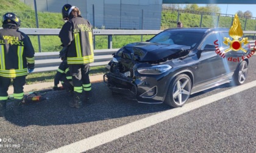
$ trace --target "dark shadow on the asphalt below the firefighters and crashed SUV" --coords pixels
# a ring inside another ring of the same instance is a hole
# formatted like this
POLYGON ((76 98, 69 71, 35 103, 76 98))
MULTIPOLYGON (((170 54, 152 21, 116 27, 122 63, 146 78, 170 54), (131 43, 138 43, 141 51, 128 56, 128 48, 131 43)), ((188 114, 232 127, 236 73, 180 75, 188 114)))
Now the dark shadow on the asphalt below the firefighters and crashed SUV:
POLYGON ((7 104, 5 120, 17 126, 49 126, 61 124, 88 123, 92 121, 122 118, 133 115, 151 114, 171 109, 166 104, 141 104, 122 96, 113 96, 105 83, 92 84, 92 98, 80 109, 68 106, 65 90, 46 93, 48 100, 23 105, 20 115, 12 114, 12 101, 7 104))

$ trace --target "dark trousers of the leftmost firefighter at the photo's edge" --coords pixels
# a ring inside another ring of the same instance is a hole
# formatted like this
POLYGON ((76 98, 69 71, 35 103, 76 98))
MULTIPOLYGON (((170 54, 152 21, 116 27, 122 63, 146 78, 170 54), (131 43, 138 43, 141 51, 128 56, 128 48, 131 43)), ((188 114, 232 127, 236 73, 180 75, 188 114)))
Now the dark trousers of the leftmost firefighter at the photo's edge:
MULTIPOLYGON (((8 89, 11 83, 11 78, 0 77, 0 100, 7 100, 8 89)), ((13 78, 13 97, 21 100, 23 98, 23 86, 26 83, 26 76, 13 78)))

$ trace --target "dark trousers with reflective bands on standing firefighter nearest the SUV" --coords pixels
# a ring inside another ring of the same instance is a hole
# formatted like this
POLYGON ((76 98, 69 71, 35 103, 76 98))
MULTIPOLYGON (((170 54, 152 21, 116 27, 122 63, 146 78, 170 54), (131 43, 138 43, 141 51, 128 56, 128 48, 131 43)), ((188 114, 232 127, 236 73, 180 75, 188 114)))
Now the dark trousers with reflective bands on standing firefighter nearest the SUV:
POLYGON ((72 75, 74 92, 82 93, 83 87, 85 91, 91 90, 89 78, 90 65, 69 65, 69 72, 72 75))

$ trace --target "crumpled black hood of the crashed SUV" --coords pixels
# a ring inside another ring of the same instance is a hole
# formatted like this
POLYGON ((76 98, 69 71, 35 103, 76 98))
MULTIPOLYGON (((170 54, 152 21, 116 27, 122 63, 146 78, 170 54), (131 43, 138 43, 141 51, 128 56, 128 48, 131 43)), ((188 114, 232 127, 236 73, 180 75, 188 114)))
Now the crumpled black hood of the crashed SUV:
POLYGON ((188 50, 190 46, 180 46, 177 44, 157 44, 154 42, 135 42, 127 44, 115 55, 138 61, 155 61, 165 58, 181 50, 188 50))

